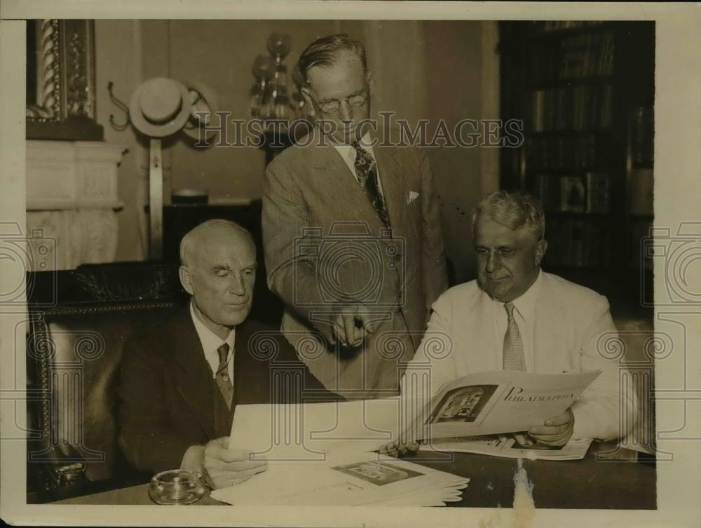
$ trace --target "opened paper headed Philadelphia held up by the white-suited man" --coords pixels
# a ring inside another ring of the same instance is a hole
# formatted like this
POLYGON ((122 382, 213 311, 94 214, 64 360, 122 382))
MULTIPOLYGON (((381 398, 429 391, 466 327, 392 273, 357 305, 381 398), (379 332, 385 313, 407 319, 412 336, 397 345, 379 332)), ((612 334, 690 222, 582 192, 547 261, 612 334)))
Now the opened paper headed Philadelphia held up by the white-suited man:
POLYGON ((402 415, 414 417, 402 440, 526 431, 566 411, 600 372, 480 372, 444 384, 433 398, 404 394, 402 415))

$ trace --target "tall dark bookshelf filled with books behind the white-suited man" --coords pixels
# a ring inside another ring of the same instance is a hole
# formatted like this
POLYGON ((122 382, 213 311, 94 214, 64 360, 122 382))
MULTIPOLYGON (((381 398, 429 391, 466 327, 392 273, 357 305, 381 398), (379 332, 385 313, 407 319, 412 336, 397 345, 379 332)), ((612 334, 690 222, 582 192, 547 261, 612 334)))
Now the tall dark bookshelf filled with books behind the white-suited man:
POLYGON ((501 22, 501 187, 543 202, 547 271, 639 288, 653 222, 654 22, 501 22))

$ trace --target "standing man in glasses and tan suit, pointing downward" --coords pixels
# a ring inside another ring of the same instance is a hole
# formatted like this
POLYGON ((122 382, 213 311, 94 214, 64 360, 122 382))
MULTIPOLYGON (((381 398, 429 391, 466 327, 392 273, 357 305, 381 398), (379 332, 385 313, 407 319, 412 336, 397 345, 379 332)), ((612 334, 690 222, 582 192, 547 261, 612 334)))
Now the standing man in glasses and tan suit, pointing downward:
POLYGON ((447 288, 426 156, 383 146, 369 121, 374 79, 348 35, 299 58, 318 126, 266 170, 268 285, 282 329, 315 377, 348 398, 398 392, 430 305, 447 288))

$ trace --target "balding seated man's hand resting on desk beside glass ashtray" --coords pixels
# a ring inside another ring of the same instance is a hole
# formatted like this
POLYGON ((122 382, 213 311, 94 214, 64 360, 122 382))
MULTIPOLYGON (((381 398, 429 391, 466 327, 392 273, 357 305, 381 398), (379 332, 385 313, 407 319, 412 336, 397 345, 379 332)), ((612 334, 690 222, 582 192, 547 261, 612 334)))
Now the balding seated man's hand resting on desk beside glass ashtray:
POLYGON ((202 467, 207 485, 217 489, 245 482, 253 475, 266 471, 268 463, 249 460, 246 451, 229 450, 229 437, 224 436, 205 446, 202 467))

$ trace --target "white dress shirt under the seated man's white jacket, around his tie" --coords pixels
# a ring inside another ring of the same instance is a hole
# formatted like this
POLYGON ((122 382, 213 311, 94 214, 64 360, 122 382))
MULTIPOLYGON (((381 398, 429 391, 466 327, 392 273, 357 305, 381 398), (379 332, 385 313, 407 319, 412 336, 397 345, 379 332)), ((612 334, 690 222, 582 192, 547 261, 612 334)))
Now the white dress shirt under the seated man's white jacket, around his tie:
MULTIPOLYGON (((533 372, 535 364, 535 334, 536 334, 536 300, 538 299, 538 290, 540 290, 541 274, 538 270, 536 282, 531 284, 521 297, 512 301, 514 305, 514 318, 516 325, 519 327, 521 334, 521 342, 524 346, 524 358, 526 360, 526 372, 533 372)), ((494 343, 496 346, 496 357, 499 365, 504 363, 504 337, 509 326, 509 318, 504 308, 503 302, 491 299, 494 307, 494 343)))

